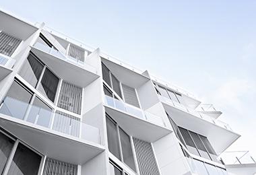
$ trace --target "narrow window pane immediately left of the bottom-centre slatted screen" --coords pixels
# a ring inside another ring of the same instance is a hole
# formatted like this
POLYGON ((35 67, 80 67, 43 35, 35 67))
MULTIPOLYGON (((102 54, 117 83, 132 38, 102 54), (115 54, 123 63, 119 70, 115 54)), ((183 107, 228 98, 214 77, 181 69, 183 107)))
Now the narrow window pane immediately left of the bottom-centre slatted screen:
POLYGON ((129 135, 119 127, 121 147, 123 153, 123 162, 127 164, 133 171, 136 171, 135 163, 133 160, 133 151, 131 149, 131 141, 129 135))

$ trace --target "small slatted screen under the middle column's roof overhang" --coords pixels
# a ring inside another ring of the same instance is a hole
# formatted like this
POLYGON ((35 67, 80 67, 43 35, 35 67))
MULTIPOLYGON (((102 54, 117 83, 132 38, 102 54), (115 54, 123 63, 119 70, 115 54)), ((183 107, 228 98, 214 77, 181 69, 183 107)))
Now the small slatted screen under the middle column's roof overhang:
POLYGON ((139 108, 139 102, 137 100, 135 89, 125 84, 122 84, 122 87, 123 96, 125 96, 125 102, 139 108))

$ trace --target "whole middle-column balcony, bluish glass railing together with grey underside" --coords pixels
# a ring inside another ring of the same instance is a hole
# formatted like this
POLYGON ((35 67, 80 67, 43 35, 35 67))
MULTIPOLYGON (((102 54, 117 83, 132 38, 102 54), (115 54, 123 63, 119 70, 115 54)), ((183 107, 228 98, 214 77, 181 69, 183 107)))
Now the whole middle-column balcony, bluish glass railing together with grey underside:
POLYGON ((113 117, 129 135, 144 141, 154 142, 168 133, 166 125, 160 116, 144 112, 120 100, 105 96, 106 112, 113 117))

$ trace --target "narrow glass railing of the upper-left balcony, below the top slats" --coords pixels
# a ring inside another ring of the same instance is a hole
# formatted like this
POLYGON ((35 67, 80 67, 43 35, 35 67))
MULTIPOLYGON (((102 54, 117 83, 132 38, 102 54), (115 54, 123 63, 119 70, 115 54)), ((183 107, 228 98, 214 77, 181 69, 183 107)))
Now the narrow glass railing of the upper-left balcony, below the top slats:
POLYGON ((69 63, 72 63, 73 65, 77 65, 78 67, 82 67, 84 69, 89 69, 93 73, 97 74, 96 67, 94 67, 88 63, 85 63, 83 61, 79 61, 78 59, 75 59, 73 57, 66 56, 64 53, 60 52, 59 50, 56 50, 53 47, 46 46, 45 44, 42 44, 41 42, 36 42, 36 44, 34 44, 34 47, 39 50, 42 50, 50 55, 53 55, 54 57, 62 59, 63 61, 67 61, 69 63))

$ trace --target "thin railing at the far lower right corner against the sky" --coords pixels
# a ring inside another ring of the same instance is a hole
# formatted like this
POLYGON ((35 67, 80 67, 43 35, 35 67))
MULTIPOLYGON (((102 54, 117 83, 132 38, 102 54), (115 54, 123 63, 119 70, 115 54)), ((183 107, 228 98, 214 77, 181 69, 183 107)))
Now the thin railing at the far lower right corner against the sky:
POLYGON ((256 164, 249 151, 226 151, 222 153, 221 160, 225 165, 256 164))

